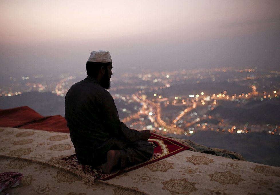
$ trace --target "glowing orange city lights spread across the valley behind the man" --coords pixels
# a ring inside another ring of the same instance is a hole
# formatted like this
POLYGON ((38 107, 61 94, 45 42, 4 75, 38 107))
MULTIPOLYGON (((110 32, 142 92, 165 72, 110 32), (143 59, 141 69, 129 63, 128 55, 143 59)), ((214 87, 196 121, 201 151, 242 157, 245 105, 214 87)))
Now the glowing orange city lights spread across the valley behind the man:
MULTIPOLYGON (((117 86, 116 80, 112 77, 112 88, 109 92, 112 94, 114 101, 121 105, 119 114, 122 117, 122 122, 127 123, 130 128, 150 128, 165 134, 186 136, 190 136, 197 131, 210 130, 230 134, 266 132, 273 136, 279 135, 278 127, 280 124, 247 125, 231 123, 224 120, 223 115, 220 115, 218 109, 216 110, 216 108, 223 108, 227 104, 241 108, 252 101, 276 100, 279 98, 279 83, 266 82, 265 79, 270 77, 267 77, 267 74, 253 71, 253 69, 247 69, 247 71, 245 69, 226 69, 226 72, 230 73, 228 78, 224 78, 226 82, 235 83, 235 85, 239 85, 241 82, 247 83, 242 83, 240 89, 243 91, 224 89, 223 83, 219 83, 219 80, 221 80, 219 74, 222 70, 184 71, 184 74, 180 74, 180 71, 137 73, 137 76, 125 74, 124 77, 117 79, 129 83, 129 85, 117 86), (256 75, 246 75, 250 72, 249 70, 256 75), (235 74, 236 72, 238 74, 242 73, 244 76, 235 74), (199 77, 197 77, 198 74, 199 77), (197 82, 197 79, 199 79, 199 82, 197 82), (207 81, 204 81, 204 79, 207 81), (147 84, 141 83, 143 81, 147 84), (193 81, 192 85, 194 86, 186 91, 184 91, 184 87, 182 89, 175 88, 178 83, 181 85, 190 81, 193 81), (203 88, 203 83, 207 82, 213 82, 211 85, 213 84, 221 90, 211 91, 212 89, 206 87, 206 85, 203 88), (260 84, 259 82, 263 83, 260 84), (197 83, 200 86, 199 89, 196 89, 195 85, 197 83), (247 90, 244 89, 246 87, 247 90)), ((271 76, 273 78, 277 73, 271 74, 274 74, 271 76)), ((46 77, 45 75, 22 75, 18 78, 11 75, 7 77, 10 84, 0 88, 0 98, 10 98, 30 91, 51 92, 58 96, 64 96, 76 78, 77 76, 74 75, 61 75, 57 80, 54 80, 54 77, 46 77), (44 81, 44 78, 46 78, 46 81, 44 81)), ((231 110, 228 110, 228 112, 230 113, 231 110)))

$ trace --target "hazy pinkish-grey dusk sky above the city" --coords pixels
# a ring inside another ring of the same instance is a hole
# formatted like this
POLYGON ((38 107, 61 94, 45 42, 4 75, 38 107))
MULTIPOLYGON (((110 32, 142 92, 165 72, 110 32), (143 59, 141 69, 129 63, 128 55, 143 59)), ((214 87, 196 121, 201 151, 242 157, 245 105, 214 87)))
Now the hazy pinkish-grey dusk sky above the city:
POLYGON ((0 1, 1 73, 280 67, 280 1, 0 1))

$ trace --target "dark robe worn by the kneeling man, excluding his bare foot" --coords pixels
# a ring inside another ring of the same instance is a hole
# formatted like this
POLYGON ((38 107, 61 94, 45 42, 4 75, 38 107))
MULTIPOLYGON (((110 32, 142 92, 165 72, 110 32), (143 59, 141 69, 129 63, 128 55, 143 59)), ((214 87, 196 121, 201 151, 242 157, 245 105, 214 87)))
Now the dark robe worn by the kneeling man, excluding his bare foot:
POLYGON ((153 146, 140 140, 139 131, 119 120, 113 97, 92 77, 70 87, 65 96, 65 119, 82 164, 103 164, 109 150, 120 151, 120 168, 144 162, 153 155, 153 146))

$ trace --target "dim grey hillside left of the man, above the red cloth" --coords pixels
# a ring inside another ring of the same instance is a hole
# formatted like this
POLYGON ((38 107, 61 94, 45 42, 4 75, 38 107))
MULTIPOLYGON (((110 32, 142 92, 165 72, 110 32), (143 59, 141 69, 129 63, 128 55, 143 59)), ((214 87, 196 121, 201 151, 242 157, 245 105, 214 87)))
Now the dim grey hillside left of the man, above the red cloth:
POLYGON ((22 93, 9 97, 0 97, 0 108, 15 108, 29 106, 43 116, 58 115, 64 116, 64 97, 56 94, 36 91, 22 93))

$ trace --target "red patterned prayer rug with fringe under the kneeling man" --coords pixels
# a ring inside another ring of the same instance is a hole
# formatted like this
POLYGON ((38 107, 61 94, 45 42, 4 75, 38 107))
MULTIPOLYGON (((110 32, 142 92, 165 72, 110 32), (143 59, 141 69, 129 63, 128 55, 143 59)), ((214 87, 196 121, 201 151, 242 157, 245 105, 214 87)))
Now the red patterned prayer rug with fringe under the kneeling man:
MULTIPOLYGON (((115 172, 112 172, 111 174, 104 174, 102 173, 102 170, 96 170, 92 166, 88 165, 82 165, 78 162, 76 158, 76 154, 60 158, 60 161, 64 161, 63 164, 67 164, 68 167, 71 167, 71 170, 74 170, 75 174, 78 174, 82 178, 86 178, 87 180, 93 180, 94 179, 100 179, 100 180, 109 180, 111 178, 114 178, 115 176, 120 175, 124 171, 131 171, 135 170, 137 168, 143 167, 147 164, 151 164, 153 162, 156 162, 158 160, 161 160, 163 158, 167 158, 169 156, 172 156, 174 154, 177 154, 178 152, 181 152, 183 150, 188 150, 189 148, 175 140, 159 136, 157 134, 152 133, 150 136, 148 142, 153 144, 154 146, 154 154, 152 158, 146 162, 127 167, 123 170, 117 170, 115 172)), ((60 163, 58 163, 60 164, 60 163)), ((87 181, 84 181, 85 183, 90 183, 87 181)))

